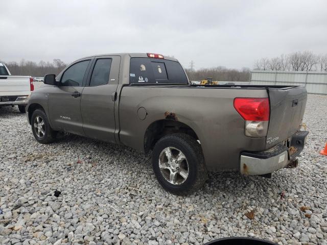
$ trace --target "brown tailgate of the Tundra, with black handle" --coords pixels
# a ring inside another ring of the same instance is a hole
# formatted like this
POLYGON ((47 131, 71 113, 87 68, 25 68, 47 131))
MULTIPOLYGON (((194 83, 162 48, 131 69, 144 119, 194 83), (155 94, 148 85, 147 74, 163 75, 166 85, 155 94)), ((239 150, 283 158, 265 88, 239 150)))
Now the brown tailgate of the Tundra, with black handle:
POLYGON ((266 149, 290 138, 300 129, 307 103, 304 87, 268 88, 270 120, 266 149))

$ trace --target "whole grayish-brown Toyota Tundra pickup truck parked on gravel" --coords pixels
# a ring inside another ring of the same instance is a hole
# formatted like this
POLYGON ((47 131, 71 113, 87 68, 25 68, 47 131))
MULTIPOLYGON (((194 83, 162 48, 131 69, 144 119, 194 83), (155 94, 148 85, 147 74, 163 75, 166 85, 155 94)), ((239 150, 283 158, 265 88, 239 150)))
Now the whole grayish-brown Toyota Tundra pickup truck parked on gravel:
POLYGON ((176 59, 158 54, 89 56, 44 83, 27 106, 38 142, 64 131, 151 152, 174 194, 201 187, 207 171, 271 177, 295 167, 308 135, 306 88, 191 85, 176 59))

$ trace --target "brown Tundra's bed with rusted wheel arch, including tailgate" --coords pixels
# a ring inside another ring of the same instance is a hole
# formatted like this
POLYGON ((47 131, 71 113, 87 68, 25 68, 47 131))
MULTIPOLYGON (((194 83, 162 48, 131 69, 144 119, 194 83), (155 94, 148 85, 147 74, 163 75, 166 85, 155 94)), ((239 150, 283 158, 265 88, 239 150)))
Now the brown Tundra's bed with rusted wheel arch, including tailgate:
POLYGON ((141 132, 151 122, 165 119, 165 113, 173 113, 176 120, 197 133, 208 169, 236 170, 241 152, 264 151, 299 129, 306 99, 306 89, 299 86, 127 85, 122 88, 119 102, 119 138, 123 144, 144 151, 139 142, 144 138, 141 132), (271 117, 267 137, 244 135, 245 121, 233 107, 236 97, 269 97, 271 117), (296 98, 298 106, 292 107, 296 98), (141 107, 147 113, 143 121, 135 114, 141 107), (267 144, 268 138, 271 140, 267 144))

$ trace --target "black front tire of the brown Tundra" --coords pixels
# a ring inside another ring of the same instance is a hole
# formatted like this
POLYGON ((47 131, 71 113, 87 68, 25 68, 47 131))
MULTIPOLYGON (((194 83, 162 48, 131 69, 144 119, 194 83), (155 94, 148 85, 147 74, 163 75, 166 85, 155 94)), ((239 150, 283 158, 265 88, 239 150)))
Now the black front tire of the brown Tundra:
POLYGON ((35 139, 42 143, 42 144, 48 144, 53 142, 56 139, 57 132, 54 131, 49 124, 48 117, 46 117, 45 112, 42 109, 36 109, 31 118, 31 127, 32 127, 32 132, 35 137, 35 139), (42 131, 44 134, 39 133, 38 135, 38 130, 35 127, 35 123, 37 122, 37 117, 40 117, 42 121, 44 122, 44 126, 42 127, 42 131))

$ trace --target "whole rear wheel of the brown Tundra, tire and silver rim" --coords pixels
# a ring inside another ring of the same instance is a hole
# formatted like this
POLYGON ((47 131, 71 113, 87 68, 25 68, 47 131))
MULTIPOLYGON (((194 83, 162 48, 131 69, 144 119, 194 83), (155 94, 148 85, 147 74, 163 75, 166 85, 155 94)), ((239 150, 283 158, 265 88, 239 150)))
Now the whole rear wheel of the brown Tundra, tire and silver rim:
POLYGON ((152 151, 154 174, 164 189, 185 195, 207 179, 200 144, 187 134, 169 134, 157 141, 152 151))

